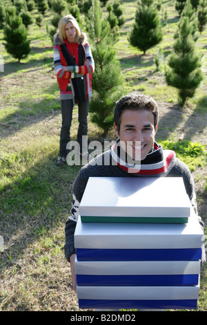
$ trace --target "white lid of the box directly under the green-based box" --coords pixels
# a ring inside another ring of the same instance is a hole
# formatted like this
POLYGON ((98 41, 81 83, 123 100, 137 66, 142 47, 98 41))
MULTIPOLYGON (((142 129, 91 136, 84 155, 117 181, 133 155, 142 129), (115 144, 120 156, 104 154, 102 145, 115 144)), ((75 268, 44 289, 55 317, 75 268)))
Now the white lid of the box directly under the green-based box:
POLYGON ((186 224, 81 223, 75 229, 75 248, 175 249, 201 248, 204 232, 191 210, 186 224))

